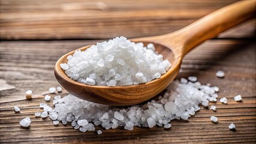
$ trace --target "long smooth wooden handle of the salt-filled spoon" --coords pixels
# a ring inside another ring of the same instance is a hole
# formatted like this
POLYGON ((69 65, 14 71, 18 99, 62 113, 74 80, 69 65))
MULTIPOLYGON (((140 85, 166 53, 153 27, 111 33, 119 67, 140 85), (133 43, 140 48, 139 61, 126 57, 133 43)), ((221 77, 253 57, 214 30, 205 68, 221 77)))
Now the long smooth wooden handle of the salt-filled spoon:
POLYGON ((198 44, 216 37, 222 31, 254 17, 255 4, 255 0, 236 2, 177 31, 178 40, 184 44, 182 55, 184 56, 198 44))

